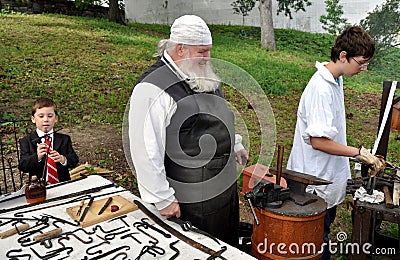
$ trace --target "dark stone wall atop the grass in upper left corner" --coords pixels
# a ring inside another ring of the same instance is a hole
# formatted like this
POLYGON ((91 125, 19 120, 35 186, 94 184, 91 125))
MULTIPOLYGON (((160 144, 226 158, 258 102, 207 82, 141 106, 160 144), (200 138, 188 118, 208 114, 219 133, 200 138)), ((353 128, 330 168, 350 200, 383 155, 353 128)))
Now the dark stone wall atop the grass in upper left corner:
MULTIPOLYGON (((108 18, 108 7, 92 6, 86 10, 81 10, 75 7, 75 2, 68 0, 0 0, 0 9, 8 8, 15 12, 29 14, 55 13, 108 18)), ((121 13, 124 14, 124 12, 121 13)))

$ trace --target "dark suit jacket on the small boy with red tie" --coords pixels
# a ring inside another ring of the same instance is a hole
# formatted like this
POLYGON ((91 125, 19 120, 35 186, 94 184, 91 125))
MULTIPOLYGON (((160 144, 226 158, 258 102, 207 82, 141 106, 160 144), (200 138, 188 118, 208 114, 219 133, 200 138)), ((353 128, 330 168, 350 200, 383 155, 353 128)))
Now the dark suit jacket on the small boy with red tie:
MULTIPOLYGON (((56 150, 61 155, 67 158, 67 165, 63 166, 57 163, 57 173, 59 181, 68 181, 71 179, 69 168, 74 168, 79 162, 78 155, 72 148, 72 141, 69 135, 54 133, 53 150, 56 150)), ((37 144, 41 143, 36 131, 20 140, 20 161, 18 169, 29 173, 29 177, 33 175, 42 178, 45 160, 38 162, 37 159, 37 144)))

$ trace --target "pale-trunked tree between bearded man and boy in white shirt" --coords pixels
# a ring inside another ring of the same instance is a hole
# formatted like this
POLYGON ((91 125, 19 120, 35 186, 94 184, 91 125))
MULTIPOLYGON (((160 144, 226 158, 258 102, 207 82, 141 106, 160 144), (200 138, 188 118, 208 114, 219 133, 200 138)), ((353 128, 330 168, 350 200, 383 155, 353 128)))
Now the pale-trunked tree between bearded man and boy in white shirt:
MULTIPOLYGON (((272 19, 272 0, 250 0, 254 3, 259 1, 258 10, 260 11, 261 27, 261 46, 270 50, 276 50, 274 21, 272 19)), ((305 11, 306 6, 310 6, 310 0, 277 0, 277 14, 284 12, 285 16, 292 19, 292 10, 298 12, 305 11)), ((253 5, 253 6, 254 6, 253 5)), ((251 9, 250 9, 251 11, 251 9)))

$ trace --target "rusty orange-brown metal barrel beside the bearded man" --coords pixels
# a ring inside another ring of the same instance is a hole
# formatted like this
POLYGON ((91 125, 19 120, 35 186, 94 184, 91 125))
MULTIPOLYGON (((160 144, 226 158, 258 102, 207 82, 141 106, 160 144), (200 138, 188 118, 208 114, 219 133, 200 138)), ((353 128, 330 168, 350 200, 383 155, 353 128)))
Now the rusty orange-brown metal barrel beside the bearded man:
POLYGON ((251 254, 257 259, 321 259, 326 203, 285 201, 280 208, 255 208, 251 254))

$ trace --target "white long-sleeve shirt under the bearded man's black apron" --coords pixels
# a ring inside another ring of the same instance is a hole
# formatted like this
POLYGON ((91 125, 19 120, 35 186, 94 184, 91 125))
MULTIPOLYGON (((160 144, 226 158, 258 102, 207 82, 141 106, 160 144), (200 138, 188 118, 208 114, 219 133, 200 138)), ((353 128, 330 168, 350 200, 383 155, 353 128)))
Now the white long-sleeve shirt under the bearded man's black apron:
MULTIPOLYGON (((181 78, 187 76, 179 70, 170 56, 164 58, 181 78)), ((154 203, 161 210, 175 200, 165 167, 166 128, 175 114, 177 104, 161 88, 147 82, 135 86, 129 109, 129 146, 141 198, 154 203)), ((235 135, 234 151, 244 149, 242 137, 235 135)))

